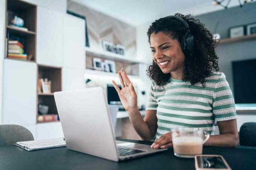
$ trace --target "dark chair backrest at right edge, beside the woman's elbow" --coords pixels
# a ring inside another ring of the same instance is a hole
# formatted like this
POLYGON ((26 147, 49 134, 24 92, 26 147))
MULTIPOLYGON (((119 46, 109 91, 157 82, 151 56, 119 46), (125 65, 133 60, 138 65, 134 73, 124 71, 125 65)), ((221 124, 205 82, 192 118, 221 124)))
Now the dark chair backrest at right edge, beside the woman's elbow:
POLYGON ((240 145, 256 146, 256 122, 242 124, 239 131, 240 145))

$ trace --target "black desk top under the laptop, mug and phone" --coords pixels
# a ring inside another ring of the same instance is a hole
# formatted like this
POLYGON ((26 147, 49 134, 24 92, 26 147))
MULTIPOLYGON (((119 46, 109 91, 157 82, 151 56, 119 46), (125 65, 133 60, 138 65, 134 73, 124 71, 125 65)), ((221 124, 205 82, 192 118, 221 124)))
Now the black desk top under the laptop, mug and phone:
MULTIPOLYGON (((135 143, 151 144, 149 141, 123 140, 135 143)), ((235 149, 221 147, 204 147, 203 154, 224 156, 233 170, 256 169, 256 147, 235 149)), ((112 162, 84 153, 68 150, 66 147, 27 151, 17 146, 0 147, 0 170, 146 170, 146 169, 195 169, 194 159, 177 158, 173 149, 130 159, 123 162, 112 162)))

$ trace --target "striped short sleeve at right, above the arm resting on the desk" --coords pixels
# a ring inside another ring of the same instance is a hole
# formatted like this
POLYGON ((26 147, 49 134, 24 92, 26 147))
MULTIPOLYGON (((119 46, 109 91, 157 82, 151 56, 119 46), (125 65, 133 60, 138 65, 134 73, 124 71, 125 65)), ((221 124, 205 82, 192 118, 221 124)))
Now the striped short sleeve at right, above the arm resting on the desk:
POLYGON ((220 73, 213 92, 213 114, 217 122, 238 118, 232 91, 223 73, 220 73))

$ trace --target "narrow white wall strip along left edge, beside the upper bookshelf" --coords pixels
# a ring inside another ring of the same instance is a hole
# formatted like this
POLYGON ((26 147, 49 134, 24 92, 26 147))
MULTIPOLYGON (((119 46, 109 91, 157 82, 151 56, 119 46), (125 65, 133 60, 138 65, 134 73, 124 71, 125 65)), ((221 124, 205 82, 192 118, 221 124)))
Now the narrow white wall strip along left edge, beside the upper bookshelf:
POLYGON ((0 124, 2 123, 4 55, 5 55, 5 0, 0 0, 0 124))

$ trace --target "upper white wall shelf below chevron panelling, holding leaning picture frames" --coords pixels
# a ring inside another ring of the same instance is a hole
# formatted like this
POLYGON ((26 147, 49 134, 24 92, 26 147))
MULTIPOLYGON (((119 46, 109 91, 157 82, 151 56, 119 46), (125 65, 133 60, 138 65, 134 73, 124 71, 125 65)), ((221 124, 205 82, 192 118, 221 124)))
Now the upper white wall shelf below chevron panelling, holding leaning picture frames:
POLYGON ((134 63, 134 64, 139 64, 139 63, 144 64, 144 62, 140 62, 139 60, 133 59, 132 57, 123 56, 123 55, 111 53, 111 52, 108 52, 108 51, 96 51, 96 50, 93 50, 91 48, 85 47, 85 52, 87 54, 90 54, 92 56, 96 56, 96 57, 99 57, 99 58, 121 61, 121 62, 128 62, 128 63, 131 63, 131 64, 132 63, 134 63))

